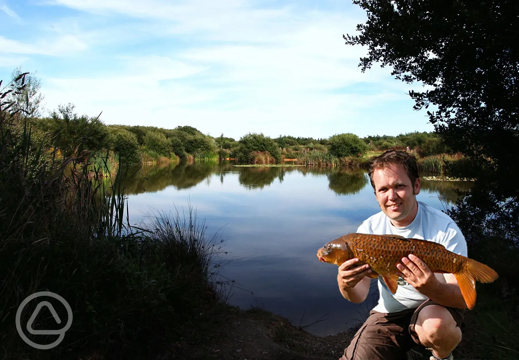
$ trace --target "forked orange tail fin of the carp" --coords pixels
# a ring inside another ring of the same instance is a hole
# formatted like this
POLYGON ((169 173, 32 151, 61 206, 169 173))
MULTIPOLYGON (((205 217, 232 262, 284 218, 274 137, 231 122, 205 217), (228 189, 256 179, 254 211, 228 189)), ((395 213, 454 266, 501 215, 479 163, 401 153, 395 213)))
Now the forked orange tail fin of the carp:
POLYGON ((476 304, 476 280, 481 283, 491 283, 498 278, 498 275, 494 270, 481 262, 472 259, 467 260, 467 269, 463 273, 454 274, 454 276, 456 276, 456 281, 467 308, 472 310, 476 304))

